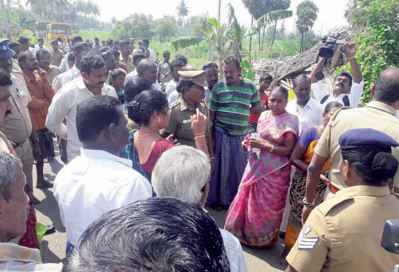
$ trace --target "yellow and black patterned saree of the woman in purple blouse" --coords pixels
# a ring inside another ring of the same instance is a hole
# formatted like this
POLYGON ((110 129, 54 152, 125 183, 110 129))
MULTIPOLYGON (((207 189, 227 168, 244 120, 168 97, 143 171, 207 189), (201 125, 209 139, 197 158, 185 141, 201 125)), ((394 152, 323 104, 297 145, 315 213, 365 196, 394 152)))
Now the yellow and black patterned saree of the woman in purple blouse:
MULTIPOLYGON (((315 147, 319 140, 311 142, 305 155, 304 162, 310 164, 313 155, 315 154, 315 147)), ((328 177, 330 170, 330 161, 323 166, 322 174, 328 177)), ((302 229, 302 210, 304 209, 303 199, 306 193, 306 178, 308 174, 302 171, 296 170, 291 182, 291 190, 289 192, 289 202, 291 204, 291 210, 289 212, 287 230, 285 232, 284 245, 286 248, 292 248, 298 238, 302 229)), ((316 188, 315 200, 316 205, 323 202, 324 192, 326 191, 327 185, 319 181, 316 188)))

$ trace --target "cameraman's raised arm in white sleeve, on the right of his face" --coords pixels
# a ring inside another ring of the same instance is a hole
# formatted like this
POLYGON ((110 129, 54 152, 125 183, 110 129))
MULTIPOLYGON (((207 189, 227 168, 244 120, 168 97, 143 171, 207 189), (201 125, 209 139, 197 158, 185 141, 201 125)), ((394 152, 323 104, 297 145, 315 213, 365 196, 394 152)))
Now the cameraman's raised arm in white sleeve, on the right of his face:
POLYGON ((349 103, 351 107, 357 107, 362 98, 364 81, 359 64, 357 63, 356 58, 354 58, 356 55, 356 44, 348 42, 344 44, 344 50, 346 57, 350 59, 349 61, 353 75, 351 92, 348 95, 349 103))

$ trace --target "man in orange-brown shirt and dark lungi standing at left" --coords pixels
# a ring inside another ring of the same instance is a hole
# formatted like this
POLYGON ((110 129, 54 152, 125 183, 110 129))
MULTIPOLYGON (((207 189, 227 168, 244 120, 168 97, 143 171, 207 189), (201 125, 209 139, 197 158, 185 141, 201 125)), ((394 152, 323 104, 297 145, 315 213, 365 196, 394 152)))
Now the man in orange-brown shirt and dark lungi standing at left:
POLYGON ((32 101, 28 107, 31 112, 32 121, 36 128, 41 157, 36 158, 37 171, 37 188, 51 188, 52 183, 44 179, 43 165, 44 159, 55 157, 53 138, 50 131, 46 128, 46 118, 49 105, 54 97, 54 90, 47 79, 47 72, 39 68, 36 56, 29 51, 24 51, 18 56, 18 63, 22 69, 26 86, 32 101), (39 75, 35 75, 34 71, 38 70, 39 75))

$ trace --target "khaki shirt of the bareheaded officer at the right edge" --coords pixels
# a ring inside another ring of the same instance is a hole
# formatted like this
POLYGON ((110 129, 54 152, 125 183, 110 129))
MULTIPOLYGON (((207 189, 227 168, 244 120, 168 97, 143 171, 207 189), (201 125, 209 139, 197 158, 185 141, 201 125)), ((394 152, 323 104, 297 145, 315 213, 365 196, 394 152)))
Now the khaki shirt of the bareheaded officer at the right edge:
MULTIPOLYGON (((339 171, 341 148, 338 139, 342 133, 355 128, 372 128, 384 132, 396 141, 399 141, 399 118, 396 117, 395 109, 378 101, 371 101, 363 108, 341 110, 335 120, 330 120, 329 124, 332 124, 330 153, 327 150, 328 125, 320 137, 315 148, 315 153, 326 159, 331 157, 329 180, 332 185, 340 190, 347 187, 344 182, 344 177, 339 171)), ((399 149, 393 148, 392 155, 399 160, 399 149)), ((399 188, 399 171, 396 172, 393 178, 393 186, 399 188)), ((334 195, 327 188, 325 199, 329 199, 333 196, 334 195)))

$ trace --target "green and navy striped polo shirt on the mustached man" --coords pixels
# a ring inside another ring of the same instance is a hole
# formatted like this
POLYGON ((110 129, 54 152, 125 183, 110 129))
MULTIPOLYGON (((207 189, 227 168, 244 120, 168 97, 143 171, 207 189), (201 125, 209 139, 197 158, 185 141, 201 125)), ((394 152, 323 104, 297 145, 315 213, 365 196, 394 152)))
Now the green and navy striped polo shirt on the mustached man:
POLYGON ((249 105, 260 104, 255 84, 247 79, 241 80, 237 87, 225 80, 212 88, 209 109, 216 111, 215 126, 227 130, 233 135, 244 135, 247 132, 249 105))

